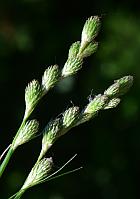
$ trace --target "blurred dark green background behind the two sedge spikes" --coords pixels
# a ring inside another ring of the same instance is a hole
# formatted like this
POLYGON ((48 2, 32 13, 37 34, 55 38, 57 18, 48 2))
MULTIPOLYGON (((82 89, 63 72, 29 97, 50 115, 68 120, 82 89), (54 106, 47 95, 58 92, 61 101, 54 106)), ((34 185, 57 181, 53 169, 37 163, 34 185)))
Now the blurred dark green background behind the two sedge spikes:
MULTIPOLYGON (((72 129, 48 153, 65 171, 83 169, 36 186, 26 199, 136 199, 140 178, 140 14, 136 1, 0 1, 0 153, 11 143, 24 114, 24 89, 51 64, 63 67, 69 46, 80 40, 85 20, 101 16, 98 51, 83 69, 43 98, 32 118, 44 125, 73 104, 84 107, 91 90, 102 93, 114 79, 134 85, 113 110, 72 129)), ((41 137, 19 147, 3 175, 0 198, 21 187, 35 163, 41 137)))

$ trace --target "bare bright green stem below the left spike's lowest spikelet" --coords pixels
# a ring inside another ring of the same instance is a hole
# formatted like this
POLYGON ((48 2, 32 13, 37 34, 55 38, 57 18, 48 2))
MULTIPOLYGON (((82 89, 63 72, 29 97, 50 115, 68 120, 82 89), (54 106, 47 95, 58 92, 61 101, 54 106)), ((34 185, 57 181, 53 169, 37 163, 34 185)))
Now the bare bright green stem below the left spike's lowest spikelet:
POLYGON ((12 147, 10 147, 8 153, 5 156, 5 159, 3 160, 3 162, 2 162, 2 164, 0 166, 0 177, 2 176, 2 174, 3 174, 4 170, 5 170, 8 162, 9 162, 9 160, 11 158, 11 156, 13 155, 13 153, 14 153, 14 150, 13 150, 12 147))

